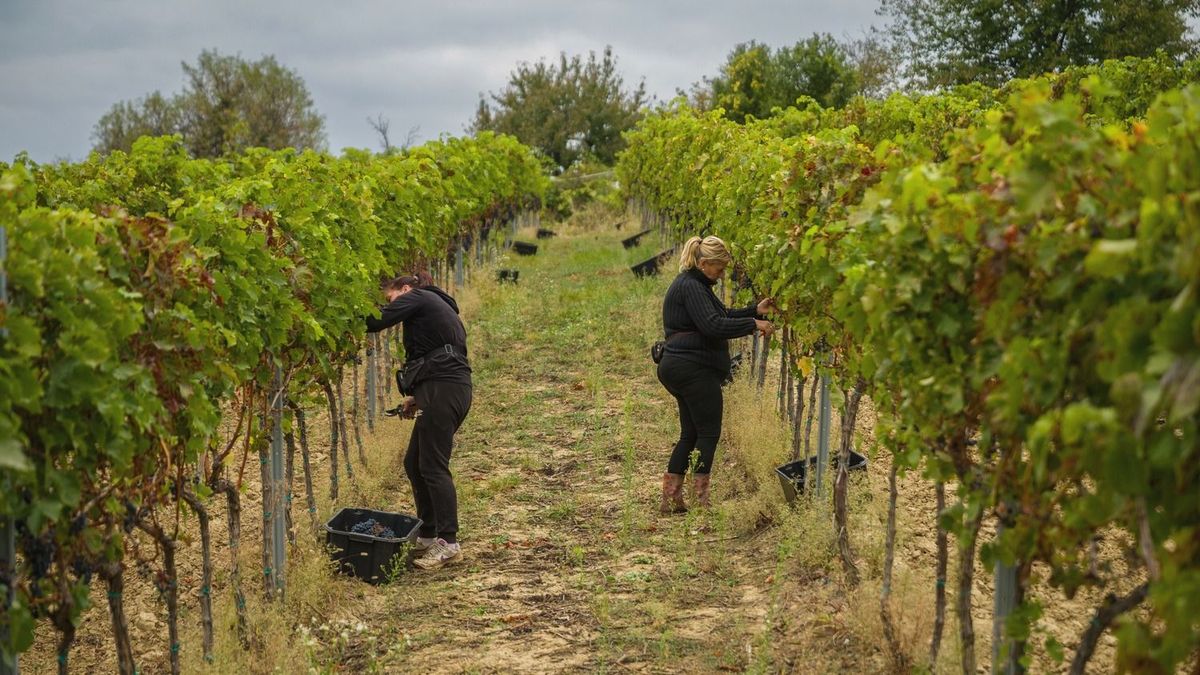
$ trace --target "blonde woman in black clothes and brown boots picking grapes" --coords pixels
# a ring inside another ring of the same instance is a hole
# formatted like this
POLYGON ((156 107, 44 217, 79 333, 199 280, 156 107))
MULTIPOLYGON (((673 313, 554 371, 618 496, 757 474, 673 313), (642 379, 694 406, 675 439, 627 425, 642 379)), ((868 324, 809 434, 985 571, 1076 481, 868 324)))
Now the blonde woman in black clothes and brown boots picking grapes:
POLYGON ((666 350, 659 362, 659 382, 679 404, 679 440, 662 476, 662 513, 688 510, 683 484, 694 450, 696 503, 708 506, 709 471, 721 437, 721 383, 730 375, 727 341, 774 330, 764 319, 775 309, 770 298, 730 310, 713 292, 732 259, 720 238, 692 237, 683 245, 679 276, 662 301, 666 350))

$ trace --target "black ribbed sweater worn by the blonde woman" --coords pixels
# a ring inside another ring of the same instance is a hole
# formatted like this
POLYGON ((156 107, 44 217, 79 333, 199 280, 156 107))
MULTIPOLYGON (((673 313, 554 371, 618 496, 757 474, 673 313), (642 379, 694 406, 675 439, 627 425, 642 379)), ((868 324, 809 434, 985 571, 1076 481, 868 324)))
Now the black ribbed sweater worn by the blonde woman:
POLYGON ((714 368, 724 376, 730 372, 727 340, 754 333, 757 306, 726 309, 713 293, 714 285, 698 269, 680 273, 662 300, 662 328, 667 354, 714 368), (685 334, 672 338, 676 333, 685 334))

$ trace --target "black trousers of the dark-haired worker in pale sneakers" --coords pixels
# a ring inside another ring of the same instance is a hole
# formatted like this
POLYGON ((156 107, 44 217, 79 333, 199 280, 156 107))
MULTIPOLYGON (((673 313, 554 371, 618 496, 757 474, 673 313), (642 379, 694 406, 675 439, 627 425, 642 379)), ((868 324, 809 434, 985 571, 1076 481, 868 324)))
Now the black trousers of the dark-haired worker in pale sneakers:
POLYGON ((413 484, 421 537, 457 539, 458 495, 450 474, 454 435, 470 412, 470 384, 431 380, 416 386, 421 414, 413 426, 404 455, 404 473, 413 484))

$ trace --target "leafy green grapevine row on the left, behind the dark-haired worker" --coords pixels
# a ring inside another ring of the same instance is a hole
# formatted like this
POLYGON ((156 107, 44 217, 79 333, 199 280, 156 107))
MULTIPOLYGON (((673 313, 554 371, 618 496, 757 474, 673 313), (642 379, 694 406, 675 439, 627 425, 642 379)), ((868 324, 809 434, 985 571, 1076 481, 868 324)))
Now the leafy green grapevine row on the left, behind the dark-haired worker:
MULTIPOLYGON (((48 617, 65 669, 89 584, 102 578, 120 668, 132 671, 119 593, 140 530, 162 561, 178 671, 174 542, 186 507, 202 522, 211 653, 204 504, 217 492, 229 504, 245 639, 240 486, 272 432, 271 396, 328 394, 331 410, 342 407, 332 388, 365 342, 380 280, 486 237, 535 207, 545 186, 528 148, 491 133, 388 157, 256 149, 192 160, 178 137, 162 137, 76 165, 0 165, 11 292, 0 313, 0 452, 12 485, 0 515, 20 532, 0 647, 24 651, 48 617), (236 431, 218 438, 227 414, 236 431)), ((290 410, 311 485, 301 412, 290 410)), ((347 438, 344 419, 341 431, 347 438)), ((349 471, 344 440, 342 453, 349 471)), ((276 497, 264 483, 264 525, 284 516, 272 512, 276 497)), ((312 513, 311 488, 308 504, 312 513)))

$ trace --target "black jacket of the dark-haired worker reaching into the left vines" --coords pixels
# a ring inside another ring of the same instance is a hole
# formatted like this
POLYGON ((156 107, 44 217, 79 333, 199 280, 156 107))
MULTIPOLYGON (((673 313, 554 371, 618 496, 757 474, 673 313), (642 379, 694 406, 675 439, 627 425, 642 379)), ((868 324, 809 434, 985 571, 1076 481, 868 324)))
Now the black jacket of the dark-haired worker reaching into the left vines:
POLYGON ((426 359, 421 380, 445 380, 470 384, 467 329, 458 318, 458 304, 437 286, 413 288, 388 303, 379 318, 367 317, 367 333, 404 324, 407 360, 426 359), (445 346, 454 347, 448 353, 445 346))

